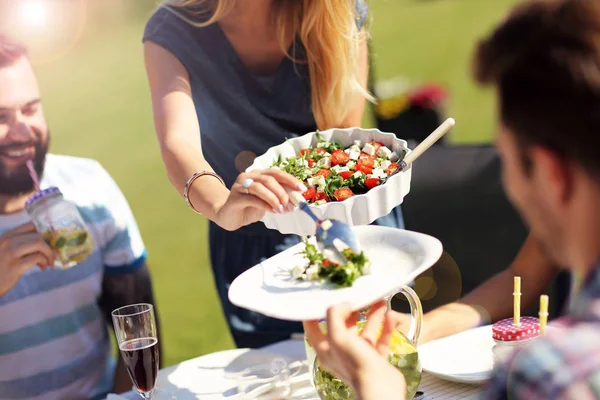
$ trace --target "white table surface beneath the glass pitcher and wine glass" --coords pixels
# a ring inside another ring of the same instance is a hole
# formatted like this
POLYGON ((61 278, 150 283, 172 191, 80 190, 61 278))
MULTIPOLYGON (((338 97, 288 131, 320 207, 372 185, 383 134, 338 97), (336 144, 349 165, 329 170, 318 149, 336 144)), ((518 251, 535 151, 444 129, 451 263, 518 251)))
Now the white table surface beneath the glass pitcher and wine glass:
MULTIPOLYGON (((235 382, 226 378, 226 372, 240 365, 258 363, 276 356, 290 360, 305 360, 302 340, 286 340, 261 350, 236 349, 207 354, 160 370, 157 387, 166 389, 181 400, 223 400, 236 392, 235 382)), ((478 387, 452 383, 423 374, 420 391, 425 393, 419 400, 476 399, 478 387)), ((292 398, 319 400, 312 387, 305 366, 292 380, 292 398)), ((139 400, 134 393, 122 395, 127 399, 139 400)), ((160 397, 157 400, 162 400, 160 397)))

